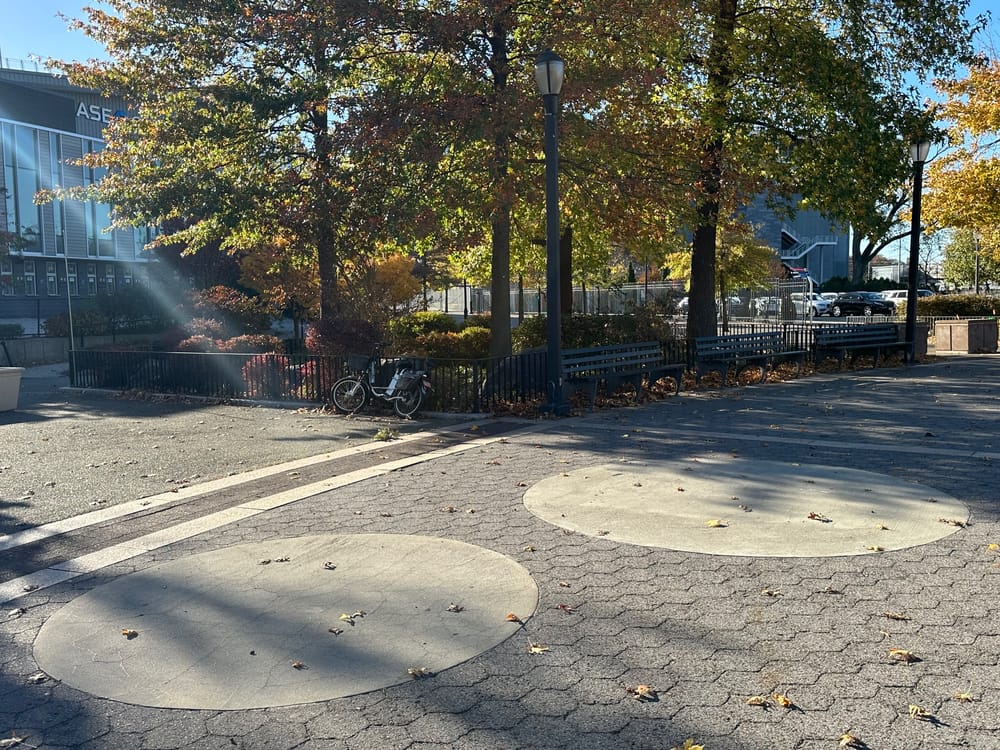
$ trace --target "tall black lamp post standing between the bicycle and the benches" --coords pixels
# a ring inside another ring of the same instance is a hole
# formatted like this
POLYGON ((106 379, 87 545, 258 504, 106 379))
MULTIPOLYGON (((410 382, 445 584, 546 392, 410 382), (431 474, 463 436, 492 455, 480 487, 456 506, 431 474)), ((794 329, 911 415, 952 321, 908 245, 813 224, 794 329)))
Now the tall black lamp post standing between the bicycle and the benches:
POLYGON ((547 361, 545 368, 548 402, 542 407, 565 414, 569 405, 562 388, 562 322, 559 307, 559 92, 562 90, 563 59, 545 50, 535 60, 535 83, 545 105, 545 294, 547 361))

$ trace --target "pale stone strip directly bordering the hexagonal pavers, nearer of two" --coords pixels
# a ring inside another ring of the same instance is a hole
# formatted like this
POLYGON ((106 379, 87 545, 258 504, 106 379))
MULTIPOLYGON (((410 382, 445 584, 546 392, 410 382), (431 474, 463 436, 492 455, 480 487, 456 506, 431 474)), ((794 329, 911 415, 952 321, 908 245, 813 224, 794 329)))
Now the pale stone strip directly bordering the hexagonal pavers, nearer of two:
MULTIPOLYGON (((547 426, 548 424, 546 423, 536 423, 534 425, 526 426, 514 434, 537 432, 547 426)), ((436 433, 425 433, 424 435, 427 436, 434 434, 436 433)), ((313 482, 312 484, 306 484, 301 487, 284 490, 283 492, 276 493, 275 495, 271 495, 269 497, 249 500, 241 505, 209 513, 205 516, 201 516, 200 518, 184 521, 183 523, 175 524, 173 526, 168 526, 144 536, 130 539, 127 542, 120 542, 119 544, 114 544, 110 547, 105 547, 104 549, 96 550, 70 560, 56 563, 44 570, 35 571, 33 573, 29 573, 28 575, 21 576, 20 578, 0 583, 0 604, 5 604, 13 599, 25 596, 31 591, 63 583, 79 575, 92 573, 93 571, 107 567, 108 565, 114 565, 133 557, 138 557, 146 552, 151 552, 161 547, 174 544, 175 542, 190 539, 198 534, 214 531, 215 529, 226 526, 230 523, 260 515, 261 513, 265 513, 269 510, 280 508, 281 506, 289 505, 329 490, 345 487, 373 477, 382 476, 408 466, 424 463, 426 461, 432 461, 436 458, 462 453, 471 448, 489 445, 490 443, 499 442, 507 438, 508 434, 473 438, 472 440, 468 440, 464 443, 459 443, 458 445, 453 445, 448 448, 439 448, 437 450, 428 451, 426 453, 410 456, 408 458, 386 461, 378 466, 359 469, 337 477, 324 479, 320 482, 313 482)))

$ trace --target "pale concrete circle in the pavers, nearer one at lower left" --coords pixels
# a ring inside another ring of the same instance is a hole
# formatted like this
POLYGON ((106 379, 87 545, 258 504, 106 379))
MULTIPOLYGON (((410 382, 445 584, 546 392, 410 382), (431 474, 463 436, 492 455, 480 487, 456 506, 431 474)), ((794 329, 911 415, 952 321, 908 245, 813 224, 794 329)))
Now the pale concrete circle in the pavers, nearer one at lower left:
POLYGON ((123 576, 42 627, 52 677, 115 700, 241 709, 337 698, 465 661, 531 614, 528 572, 418 536, 244 544, 123 576), (267 561, 267 562, 265 562, 267 561))

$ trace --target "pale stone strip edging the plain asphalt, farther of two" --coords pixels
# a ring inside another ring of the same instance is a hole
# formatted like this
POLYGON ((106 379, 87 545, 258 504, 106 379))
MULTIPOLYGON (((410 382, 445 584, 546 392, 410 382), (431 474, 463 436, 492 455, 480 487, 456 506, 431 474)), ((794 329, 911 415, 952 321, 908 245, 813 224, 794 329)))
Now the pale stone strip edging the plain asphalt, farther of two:
MULTIPOLYGON (((397 438, 392 442, 408 443, 414 440, 437 437, 441 432, 468 430, 475 427, 482 421, 483 420, 479 419, 470 422, 463 422, 461 424, 449 425, 442 427, 439 430, 414 432, 397 438)), ((527 421, 525 423, 529 424, 527 421)), ((60 521, 53 521, 52 523, 18 531, 13 534, 2 535, 0 536, 0 552, 13 549, 14 547, 21 547, 25 544, 37 542, 49 537, 58 536, 59 534, 65 534, 69 531, 76 531, 77 529, 86 528, 87 526, 94 526, 95 524, 104 523, 106 521, 113 521, 117 518, 122 518, 123 516, 128 516, 133 513, 141 513, 143 511, 152 510, 164 505, 176 505, 181 502, 187 502, 212 492, 218 492, 219 490, 228 489, 247 482, 253 482, 258 479, 264 479, 276 474, 295 471, 296 469, 313 466, 315 464, 332 461, 338 458, 344 458, 346 456, 360 455, 362 453, 370 453, 372 451, 384 449, 384 442, 364 443, 362 445, 342 448, 339 451, 320 453, 315 456, 307 456, 306 458, 298 458, 281 464, 275 464, 274 466, 266 466, 260 469, 241 472, 240 474, 233 474, 228 477, 212 479, 201 484, 180 487, 177 490, 161 492, 158 495, 150 495, 149 497, 140 498, 138 500, 129 500, 108 508, 101 508, 89 513, 73 516, 72 518, 65 518, 60 521)))

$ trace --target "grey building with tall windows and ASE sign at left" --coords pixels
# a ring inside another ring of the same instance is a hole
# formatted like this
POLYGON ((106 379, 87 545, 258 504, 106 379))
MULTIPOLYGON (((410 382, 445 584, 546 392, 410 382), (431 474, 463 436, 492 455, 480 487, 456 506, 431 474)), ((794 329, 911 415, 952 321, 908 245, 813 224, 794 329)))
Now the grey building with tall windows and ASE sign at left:
POLYGON ((85 301, 146 282, 148 231, 106 231, 111 208, 94 201, 34 204, 38 190, 99 180, 73 162, 102 149, 104 126, 124 115, 123 102, 64 77, 0 67, 0 228, 26 243, 0 254, 0 321, 44 321, 66 311, 67 293, 85 301))

